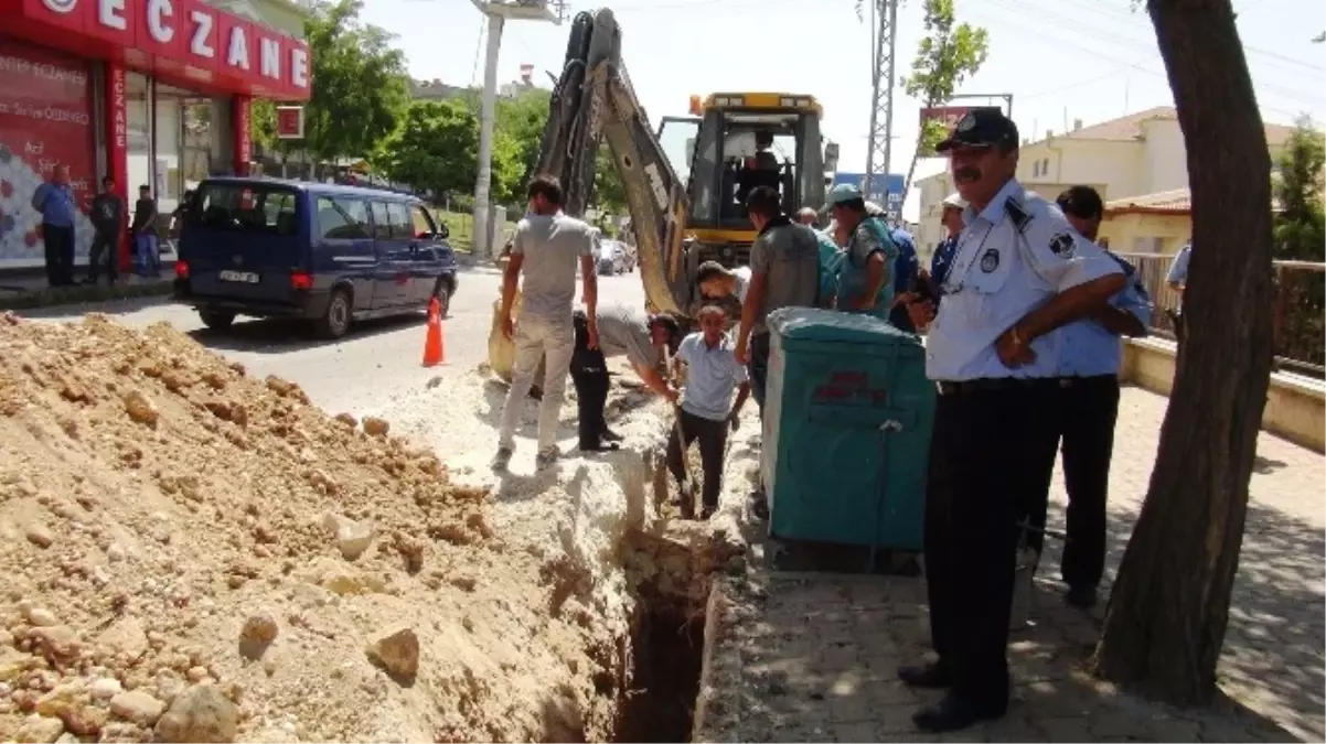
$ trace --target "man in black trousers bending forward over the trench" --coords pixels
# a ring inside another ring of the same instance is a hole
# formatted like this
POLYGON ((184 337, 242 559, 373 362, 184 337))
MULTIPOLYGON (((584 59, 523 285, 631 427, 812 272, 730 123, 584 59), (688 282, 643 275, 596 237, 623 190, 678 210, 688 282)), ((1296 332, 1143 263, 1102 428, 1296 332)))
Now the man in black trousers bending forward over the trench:
POLYGON ((590 344, 590 323, 583 310, 573 314, 575 351, 572 353, 572 384, 579 409, 577 429, 581 451, 615 450, 622 437, 607 428, 607 359, 625 356, 640 380, 670 402, 679 398, 659 372, 663 349, 682 342, 682 327, 671 315, 646 315, 634 306, 613 303, 598 308, 598 346, 590 344))

